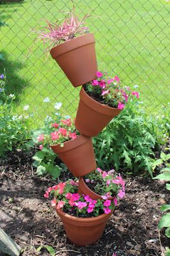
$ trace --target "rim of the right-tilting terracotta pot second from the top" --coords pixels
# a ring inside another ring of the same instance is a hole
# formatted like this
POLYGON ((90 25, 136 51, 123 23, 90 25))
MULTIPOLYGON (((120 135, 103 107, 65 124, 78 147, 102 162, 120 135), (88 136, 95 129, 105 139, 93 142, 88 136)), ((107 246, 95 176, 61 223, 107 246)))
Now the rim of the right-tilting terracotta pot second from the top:
POLYGON ((96 112, 103 113, 104 111, 106 111, 106 115, 111 116, 111 115, 113 115, 113 112, 121 111, 121 109, 111 108, 110 106, 107 106, 106 104, 102 104, 102 103, 98 102, 97 100, 92 99, 92 97, 90 97, 85 92, 85 89, 83 88, 83 86, 81 87, 80 97, 81 97, 81 100, 83 101, 83 103, 86 104, 87 106, 88 106, 87 102, 90 102, 90 108, 92 108, 96 112))

